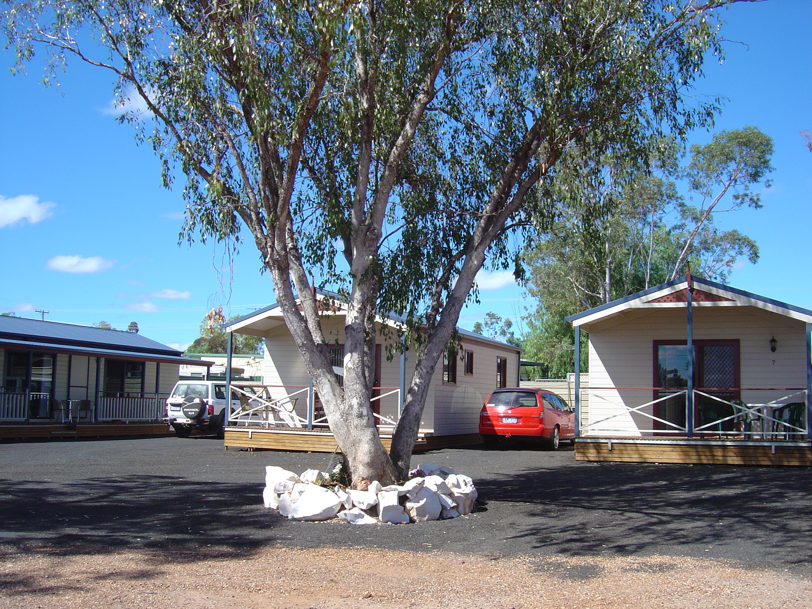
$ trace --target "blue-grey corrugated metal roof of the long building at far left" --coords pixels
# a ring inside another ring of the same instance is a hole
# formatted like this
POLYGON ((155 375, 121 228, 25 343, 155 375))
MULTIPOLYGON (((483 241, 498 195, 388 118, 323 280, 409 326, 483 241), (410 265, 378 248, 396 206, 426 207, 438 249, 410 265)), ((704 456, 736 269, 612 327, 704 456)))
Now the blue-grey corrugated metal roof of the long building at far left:
POLYGON ((183 352, 136 332, 0 315, 0 339, 181 356, 183 352))

